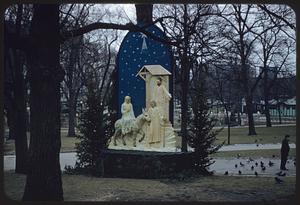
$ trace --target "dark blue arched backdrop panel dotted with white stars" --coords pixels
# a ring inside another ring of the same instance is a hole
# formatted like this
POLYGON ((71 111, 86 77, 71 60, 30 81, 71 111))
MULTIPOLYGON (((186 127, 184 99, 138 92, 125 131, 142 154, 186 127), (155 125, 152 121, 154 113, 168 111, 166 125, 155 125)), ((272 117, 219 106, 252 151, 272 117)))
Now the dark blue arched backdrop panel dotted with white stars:
MULTIPOLYGON (((147 31, 165 38, 164 33, 157 26, 148 27, 147 31)), ((144 65, 151 64, 161 65, 172 73, 170 46, 146 37, 143 33, 128 32, 122 41, 117 57, 118 117, 121 117, 120 107, 126 95, 131 97, 135 116, 142 113, 142 108, 145 108, 146 104, 146 85, 144 80, 136 74, 144 65)), ((172 78, 173 76, 170 78, 170 93, 173 95, 172 78)))

